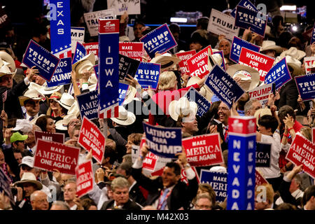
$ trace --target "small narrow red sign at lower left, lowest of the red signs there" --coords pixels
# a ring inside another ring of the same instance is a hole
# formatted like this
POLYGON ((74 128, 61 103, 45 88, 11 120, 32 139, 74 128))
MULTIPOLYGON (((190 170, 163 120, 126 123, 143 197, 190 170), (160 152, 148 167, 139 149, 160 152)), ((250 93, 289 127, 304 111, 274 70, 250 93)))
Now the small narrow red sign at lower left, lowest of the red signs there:
POLYGON ((78 197, 93 190, 92 161, 89 160, 76 167, 76 194, 78 197))

